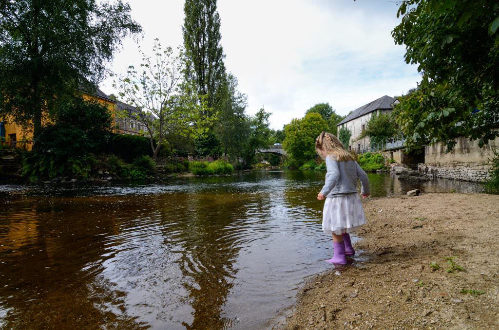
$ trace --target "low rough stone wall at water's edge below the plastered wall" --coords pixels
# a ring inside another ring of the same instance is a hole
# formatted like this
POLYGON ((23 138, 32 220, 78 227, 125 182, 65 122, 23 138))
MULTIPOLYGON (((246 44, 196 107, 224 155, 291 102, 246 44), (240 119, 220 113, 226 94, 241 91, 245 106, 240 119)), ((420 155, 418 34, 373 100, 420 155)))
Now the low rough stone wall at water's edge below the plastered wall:
POLYGON ((484 182, 490 179, 489 173, 491 169, 492 162, 490 161, 480 163, 418 164, 419 172, 432 178, 443 177, 473 182, 484 182))

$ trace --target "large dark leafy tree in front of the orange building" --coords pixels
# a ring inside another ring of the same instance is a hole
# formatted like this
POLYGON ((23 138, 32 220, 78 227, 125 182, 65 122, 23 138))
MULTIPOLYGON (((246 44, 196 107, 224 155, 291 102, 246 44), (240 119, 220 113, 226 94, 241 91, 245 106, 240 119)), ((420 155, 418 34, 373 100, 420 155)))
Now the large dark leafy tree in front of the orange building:
POLYGON ((32 130, 34 149, 42 118, 73 102, 82 81, 96 85, 121 39, 141 32, 130 11, 121 0, 0 2, 0 115, 32 130))

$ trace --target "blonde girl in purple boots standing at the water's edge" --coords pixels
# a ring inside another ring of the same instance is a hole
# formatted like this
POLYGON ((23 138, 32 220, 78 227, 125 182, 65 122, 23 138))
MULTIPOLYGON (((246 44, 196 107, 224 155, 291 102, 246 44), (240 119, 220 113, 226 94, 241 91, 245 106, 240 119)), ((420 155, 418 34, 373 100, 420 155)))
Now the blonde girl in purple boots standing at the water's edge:
POLYGON ((326 182, 317 195, 318 200, 326 199, 322 230, 333 235, 334 255, 326 262, 345 265, 346 256, 355 254, 349 233, 366 223, 366 215, 357 195, 357 178, 362 184, 360 194, 363 198, 370 194, 369 180, 334 135, 322 132, 315 140, 315 150, 326 160, 327 168, 326 182))

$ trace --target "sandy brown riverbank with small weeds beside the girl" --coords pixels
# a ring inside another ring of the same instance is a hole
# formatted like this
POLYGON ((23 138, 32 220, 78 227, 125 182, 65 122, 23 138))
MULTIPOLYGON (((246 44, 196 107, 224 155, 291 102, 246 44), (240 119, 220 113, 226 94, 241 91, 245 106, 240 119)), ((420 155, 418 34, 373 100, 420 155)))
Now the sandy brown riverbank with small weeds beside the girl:
POLYGON ((311 279, 284 329, 499 329, 499 195, 374 198, 365 210, 356 261, 311 279), (454 256, 464 271, 446 271, 454 256))

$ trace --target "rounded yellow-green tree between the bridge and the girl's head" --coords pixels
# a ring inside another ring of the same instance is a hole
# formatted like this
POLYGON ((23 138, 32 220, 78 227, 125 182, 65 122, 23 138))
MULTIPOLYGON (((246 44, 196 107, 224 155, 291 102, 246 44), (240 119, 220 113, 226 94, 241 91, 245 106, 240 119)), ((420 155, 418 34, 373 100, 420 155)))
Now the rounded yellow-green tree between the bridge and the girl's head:
POLYGON ((282 147, 294 165, 314 159, 315 139, 327 130, 327 123, 318 113, 310 112, 302 119, 293 119, 284 127, 286 137, 282 147))

